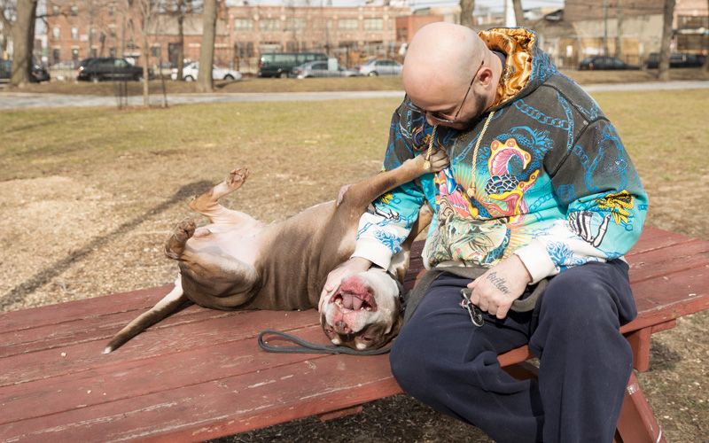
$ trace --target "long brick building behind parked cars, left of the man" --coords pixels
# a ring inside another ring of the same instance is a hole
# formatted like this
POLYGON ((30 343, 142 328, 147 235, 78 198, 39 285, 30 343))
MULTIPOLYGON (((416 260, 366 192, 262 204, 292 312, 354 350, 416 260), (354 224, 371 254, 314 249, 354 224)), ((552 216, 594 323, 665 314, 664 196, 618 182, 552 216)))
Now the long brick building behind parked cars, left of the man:
MULTIPOLYGON (((121 0, 49 0, 47 58, 50 65, 97 56, 141 60, 141 12, 121 0)), ((323 51, 352 66, 363 58, 396 57, 396 18, 406 5, 355 7, 249 5, 227 6, 220 0, 214 62, 255 72, 262 52, 323 51)), ((162 11, 148 23, 151 66, 175 65, 178 17, 162 11)), ((202 17, 183 14, 184 58, 199 59, 202 17)))

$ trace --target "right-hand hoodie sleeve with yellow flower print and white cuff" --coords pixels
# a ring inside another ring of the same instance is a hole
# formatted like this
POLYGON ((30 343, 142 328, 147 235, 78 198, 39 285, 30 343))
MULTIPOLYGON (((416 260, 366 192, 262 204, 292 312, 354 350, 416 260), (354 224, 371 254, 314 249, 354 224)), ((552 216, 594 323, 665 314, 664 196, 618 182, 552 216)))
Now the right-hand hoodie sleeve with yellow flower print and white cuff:
POLYGON ((545 167, 565 219, 515 252, 533 283, 588 261, 617 259, 635 245, 648 198, 608 120, 588 125, 572 149, 550 156, 545 167))

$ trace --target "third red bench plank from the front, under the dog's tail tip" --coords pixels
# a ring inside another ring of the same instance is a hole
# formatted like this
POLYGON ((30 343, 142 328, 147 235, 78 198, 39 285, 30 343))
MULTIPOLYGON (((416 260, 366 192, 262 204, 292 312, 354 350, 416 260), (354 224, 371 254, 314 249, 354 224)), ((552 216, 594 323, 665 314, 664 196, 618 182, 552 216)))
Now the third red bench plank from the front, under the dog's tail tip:
MULTIPOLYGON (((176 323, 146 330, 112 354, 102 354, 107 338, 0 359, 0 386, 98 369, 115 361, 145 359, 184 349, 253 338, 265 329, 292 330, 319 324, 314 310, 235 312, 209 322, 176 323), (167 350, 167 351, 166 351, 167 350)), ((255 342, 255 340, 253 340, 255 342)))

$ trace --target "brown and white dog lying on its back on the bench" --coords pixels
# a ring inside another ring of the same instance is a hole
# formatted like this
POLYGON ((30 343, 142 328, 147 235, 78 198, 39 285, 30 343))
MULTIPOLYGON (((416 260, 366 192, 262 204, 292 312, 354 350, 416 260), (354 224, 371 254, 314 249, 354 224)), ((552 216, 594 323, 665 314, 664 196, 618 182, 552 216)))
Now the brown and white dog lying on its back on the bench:
MULTIPOLYGON (((424 155, 406 160, 401 167, 343 188, 337 202, 309 207, 272 224, 219 204, 219 198, 240 188, 248 176, 246 169, 234 169, 190 203, 211 223, 198 228, 194 221, 182 221, 168 238, 166 254, 180 268, 175 288, 120 330, 104 353, 192 303, 222 310, 316 307, 325 334, 336 345, 359 350, 384 346, 401 326, 400 289, 392 276, 371 268, 343 280, 322 301, 321 290, 328 273, 353 253, 358 221, 371 201, 448 165, 442 150, 426 155, 431 155, 430 161, 424 155)), ((430 220, 430 211, 425 211, 412 229, 397 260, 395 274, 400 279, 409 264, 413 237, 430 220)))

